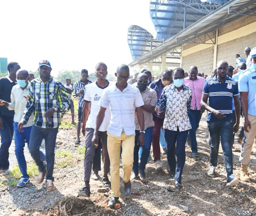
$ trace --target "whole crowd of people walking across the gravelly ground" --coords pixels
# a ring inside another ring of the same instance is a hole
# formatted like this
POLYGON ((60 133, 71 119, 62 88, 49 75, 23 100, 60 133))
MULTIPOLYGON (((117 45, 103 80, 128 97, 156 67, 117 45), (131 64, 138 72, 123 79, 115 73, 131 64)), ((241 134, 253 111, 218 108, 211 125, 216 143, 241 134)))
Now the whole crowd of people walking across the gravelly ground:
POLYGON ((14 133, 15 154, 22 173, 17 186, 24 187, 30 182, 24 157, 27 142, 39 168, 36 184, 43 183, 46 177, 47 191, 55 189, 56 136, 63 114, 69 109, 75 124, 73 95, 78 97, 75 145, 81 143, 81 125, 85 136, 84 187, 79 190, 79 196, 90 196, 90 177, 99 178, 102 157, 102 184, 111 188, 109 206, 114 206, 120 197, 120 158, 124 192, 129 195, 130 179, 146 180, 151 144, 156 171, 162 169, 161 144, 162 154, 167 155, 170 177, 174 178, 176 188, 182 188, 185 145, 190 146, 193 157, 200 156, 196 131, 205 110, 211 148, 208 176, 215 175, 221 141, 226 186, 239 184, 233 175, 232 147, 242 114, 240 180, 249 182, 247 163, 256 135, 256 47, 252 51, 246 47, 245 52, 246 61, 236 55, 236 69, 226 61, 219 61, 209 77, 191 66, 187 74, 182 68, 165 70, 156 81, 144 69, 128 80, 129 67, 122 64, 117 67, 114 84, 106 79, 108 69, 103 62, 96 64, 95 82, 88 80, 88 71, 83 69, 80 81, 72 84, 67 78, 65 86, 51 76, 52 67, 47 60, 39 62, 40 77, 36 78, 17 62, 10 62, 9 76, 0 79, 0 173, 10 172, 9 147, 14 133), (45 153, 40 149, 43 139, 45 153))

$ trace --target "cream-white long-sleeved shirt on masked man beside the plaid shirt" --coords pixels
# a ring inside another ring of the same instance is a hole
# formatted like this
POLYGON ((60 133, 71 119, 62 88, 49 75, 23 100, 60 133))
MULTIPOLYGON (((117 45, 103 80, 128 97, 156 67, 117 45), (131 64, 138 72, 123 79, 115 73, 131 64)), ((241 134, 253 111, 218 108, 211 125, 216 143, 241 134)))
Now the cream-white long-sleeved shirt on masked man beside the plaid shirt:
MULTIPOLYGON (((29 90, 28 90, 29 86, 30 86, 30 83, 28 83, 27 87, 24 90, 22 90, 22 88, 20 88, 19 85, 15 85, 12 87, 11 103, 9 103, 8 109, 14 110, 14 117, 13 117, 14 122, 20 122, 20 120, 22 119, 23 112, 27 105, 27 100, 23 96, 25 97, 29 96, 29 90)), ((25 128, 25 127, 32 126, 33 119, 34 119, 34 116, 31 115, 29 117, 27 124, 25 124, 23 127, 25 128)))

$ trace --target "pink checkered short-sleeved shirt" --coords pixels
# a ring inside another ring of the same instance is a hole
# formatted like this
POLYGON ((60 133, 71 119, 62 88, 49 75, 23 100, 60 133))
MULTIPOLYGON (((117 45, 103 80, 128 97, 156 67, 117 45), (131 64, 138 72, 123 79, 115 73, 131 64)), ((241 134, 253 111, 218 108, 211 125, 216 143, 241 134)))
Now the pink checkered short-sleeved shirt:
POLYGON ((192 100, 190 110, 201 109, 201 97, 204 83, 204 78, 200 76, 197 76, 195 80, 190 80, 189 76, 184 79, 184 85, 192 89, 192 100))

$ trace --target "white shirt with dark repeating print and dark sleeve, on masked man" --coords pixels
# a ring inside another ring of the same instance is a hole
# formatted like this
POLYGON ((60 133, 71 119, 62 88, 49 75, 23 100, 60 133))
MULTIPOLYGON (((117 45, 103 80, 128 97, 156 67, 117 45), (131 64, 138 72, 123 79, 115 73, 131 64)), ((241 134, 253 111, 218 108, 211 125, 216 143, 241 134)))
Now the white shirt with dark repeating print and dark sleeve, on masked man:
POLYGON ((163 88, 161 98, 156 104, 160 110, 166 110, 163 128, 172 131, 177 131, 177 128, 179 131, 191 129, 188 117, 191 98, 192 90, 185 85, 180 91, 174 85, 163 88))

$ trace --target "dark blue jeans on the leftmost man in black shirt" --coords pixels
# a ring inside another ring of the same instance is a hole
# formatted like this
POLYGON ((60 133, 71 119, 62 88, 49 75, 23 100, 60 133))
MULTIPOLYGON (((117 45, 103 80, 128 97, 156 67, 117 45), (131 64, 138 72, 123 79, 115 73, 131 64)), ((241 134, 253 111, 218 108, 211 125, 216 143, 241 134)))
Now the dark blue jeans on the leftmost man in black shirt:
POLYGON ((0 128, 0 170, 7 170, 9 169, 9 147, 13 137, 13 117, 2 116, 2 119, 3 129, 0 128))

